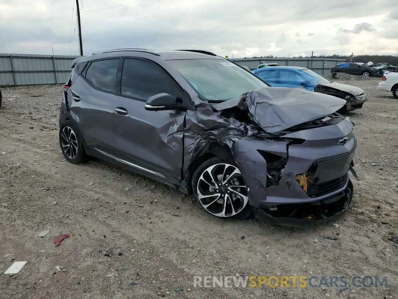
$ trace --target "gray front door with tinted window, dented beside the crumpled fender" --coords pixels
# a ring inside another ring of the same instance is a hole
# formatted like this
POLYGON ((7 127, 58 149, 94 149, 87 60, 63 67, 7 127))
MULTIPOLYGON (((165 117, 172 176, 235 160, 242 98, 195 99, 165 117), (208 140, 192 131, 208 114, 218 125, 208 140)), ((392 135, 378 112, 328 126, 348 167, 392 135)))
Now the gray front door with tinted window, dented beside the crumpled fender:
POLYGON ((117 157, 148 177, 177 184, 181 179, 185 112, 147 111, 145 102, 168 93, 182 100, 183 92, 162 67, 141 58, 125 58, 120 95, 111 114, 117 157))

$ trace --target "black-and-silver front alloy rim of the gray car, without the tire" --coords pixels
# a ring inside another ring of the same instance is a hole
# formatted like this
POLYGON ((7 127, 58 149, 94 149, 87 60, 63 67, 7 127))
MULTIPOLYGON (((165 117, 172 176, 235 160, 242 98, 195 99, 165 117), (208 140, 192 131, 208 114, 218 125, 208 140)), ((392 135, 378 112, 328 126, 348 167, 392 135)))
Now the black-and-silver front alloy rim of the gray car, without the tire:
POLYGON ((203 171, 197 183, 198 201, 210 214, 231 217, 248 203, 248 190, 242 173, 227 163, 211 165, 203 171))

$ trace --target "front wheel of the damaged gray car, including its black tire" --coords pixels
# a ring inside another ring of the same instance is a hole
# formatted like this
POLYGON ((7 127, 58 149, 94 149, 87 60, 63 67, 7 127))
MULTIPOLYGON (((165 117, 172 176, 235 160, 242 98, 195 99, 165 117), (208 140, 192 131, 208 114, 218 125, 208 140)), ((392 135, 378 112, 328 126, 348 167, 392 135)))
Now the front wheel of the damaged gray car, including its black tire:
POLYGON ((220 218, 252 218, 248 188, 240 169, 233 161, 218 157, 200 165, 192 177, 192 190, 198 205, 220 218))

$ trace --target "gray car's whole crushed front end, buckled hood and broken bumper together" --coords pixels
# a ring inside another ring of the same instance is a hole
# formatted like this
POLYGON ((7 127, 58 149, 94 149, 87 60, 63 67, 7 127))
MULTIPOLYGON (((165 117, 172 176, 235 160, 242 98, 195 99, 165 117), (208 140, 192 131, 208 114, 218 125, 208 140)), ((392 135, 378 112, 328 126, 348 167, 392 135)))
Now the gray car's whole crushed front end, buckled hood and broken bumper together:
MULTIPOLYGON (((217 130, 207 126, 210 130, 198 140, 216 136, 228 145, 257 218, 310 226, 339 216, 351 204, 349 172, 356 177, 357 142, 354 124, 336 112, 345 103, 336 96, 299 89, 253 90, 213 104, 217 119, 234 129, 217 122, 217 130)), ((201 110, 207 121, 211 111, 201 110)), ((189 125, 199 128, 193 122, 189 125)))

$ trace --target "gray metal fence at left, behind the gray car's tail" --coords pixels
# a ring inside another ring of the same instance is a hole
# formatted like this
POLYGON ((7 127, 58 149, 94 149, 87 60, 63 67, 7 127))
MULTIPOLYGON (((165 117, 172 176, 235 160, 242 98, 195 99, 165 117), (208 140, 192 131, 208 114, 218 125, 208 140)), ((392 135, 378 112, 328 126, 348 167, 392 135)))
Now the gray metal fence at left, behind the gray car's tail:
POLYGON ((65 83, 77 57, 0 54, 0 86, 65 83))

